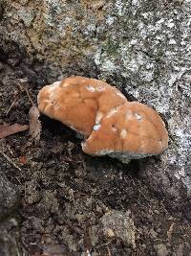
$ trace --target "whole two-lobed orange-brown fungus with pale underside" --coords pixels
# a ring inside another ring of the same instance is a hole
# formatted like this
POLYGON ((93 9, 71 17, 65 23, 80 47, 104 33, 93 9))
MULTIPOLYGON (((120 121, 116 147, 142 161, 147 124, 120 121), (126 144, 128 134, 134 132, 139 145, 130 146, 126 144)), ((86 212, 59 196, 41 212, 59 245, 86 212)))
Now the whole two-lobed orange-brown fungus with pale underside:
POLYGON ((168 146, 168 132, 157 111, 128 102, 104 81, 71 77, 44 86, 38 107, 85 136, 82 150, 116 157, 123 163, 156 155, 168 146))

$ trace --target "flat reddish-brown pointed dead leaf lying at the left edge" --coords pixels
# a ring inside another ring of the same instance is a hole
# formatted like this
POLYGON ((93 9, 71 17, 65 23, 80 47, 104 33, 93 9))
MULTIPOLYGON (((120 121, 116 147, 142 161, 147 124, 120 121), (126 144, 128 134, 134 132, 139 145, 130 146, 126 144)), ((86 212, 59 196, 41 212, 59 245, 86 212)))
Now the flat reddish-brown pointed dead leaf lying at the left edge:
POLYGON ((5 138, 7 136, 10 136, 11 134, 14 134, 19 131, 24 131, 28 129, 29 126, 27 125, 19 125, 19 124, 14 124, 14 125, 0 125, 0 139, 5 138))

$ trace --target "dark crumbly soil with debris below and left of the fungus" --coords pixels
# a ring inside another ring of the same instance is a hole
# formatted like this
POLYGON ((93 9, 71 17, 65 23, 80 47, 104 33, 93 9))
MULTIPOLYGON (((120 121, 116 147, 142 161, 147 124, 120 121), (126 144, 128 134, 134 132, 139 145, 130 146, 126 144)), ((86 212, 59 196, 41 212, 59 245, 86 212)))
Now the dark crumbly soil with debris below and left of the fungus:
MULTIPOLYGON (((48 71, 10 49, 0 50, 0 123, 28 125, 32 104, 25 89, 36 104, 48 71)), ((124 165, 88 156, 72 129, 40 120, 39 142, 29 131, 1 140, 1 151, 21 169, 0 154, 1 171, 21 194, 12 213, 21 255, 190 255, 184 209, 174 211, 139 175, 149 159, 124 165)))

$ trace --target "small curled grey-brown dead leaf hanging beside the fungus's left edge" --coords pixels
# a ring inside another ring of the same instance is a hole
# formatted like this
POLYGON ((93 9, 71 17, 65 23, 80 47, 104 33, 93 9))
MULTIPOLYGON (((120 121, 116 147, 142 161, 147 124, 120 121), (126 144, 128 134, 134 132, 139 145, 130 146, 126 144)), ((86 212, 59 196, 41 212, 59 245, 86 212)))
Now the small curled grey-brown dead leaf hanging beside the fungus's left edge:
POLYGON ((38 120, 40 113, 38 108, 35 105, 32 105, 32 108, 29 112, 30 116, 30 134, 32 139, 36 142, 40 140, 40 132, 42 130, 41 122, 38 120))

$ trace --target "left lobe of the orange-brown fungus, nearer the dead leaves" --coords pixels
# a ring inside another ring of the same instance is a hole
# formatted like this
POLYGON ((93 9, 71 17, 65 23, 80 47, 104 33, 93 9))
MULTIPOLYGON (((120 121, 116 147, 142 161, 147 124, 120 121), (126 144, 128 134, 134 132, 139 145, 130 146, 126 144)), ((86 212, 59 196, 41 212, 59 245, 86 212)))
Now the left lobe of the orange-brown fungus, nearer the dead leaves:
POLYGON ((84 77, 56 81, 38 93, 41 112, 84 135, 90 135, 111 108, 126 102, 116 87, 84 77))

